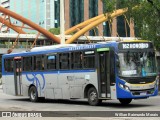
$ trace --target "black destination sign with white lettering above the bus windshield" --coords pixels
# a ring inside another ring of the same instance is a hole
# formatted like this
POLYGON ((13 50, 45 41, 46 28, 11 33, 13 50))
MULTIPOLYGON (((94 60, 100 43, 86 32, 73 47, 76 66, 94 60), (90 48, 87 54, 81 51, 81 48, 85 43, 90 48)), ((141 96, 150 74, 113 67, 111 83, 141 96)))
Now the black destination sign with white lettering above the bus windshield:
POLYGON ((151 43, 120 43, 119 49, 148 49, 153 48, 151 43))

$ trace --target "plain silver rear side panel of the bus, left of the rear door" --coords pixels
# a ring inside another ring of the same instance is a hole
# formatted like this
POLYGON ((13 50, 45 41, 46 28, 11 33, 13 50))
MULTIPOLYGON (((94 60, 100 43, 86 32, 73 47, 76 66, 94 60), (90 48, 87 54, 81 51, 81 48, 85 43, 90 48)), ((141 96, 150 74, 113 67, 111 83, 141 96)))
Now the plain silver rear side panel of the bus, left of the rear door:
POLYGON ((9 95, 16 95, 14 75, 3 75, 2 77, 3 92, 9 95))

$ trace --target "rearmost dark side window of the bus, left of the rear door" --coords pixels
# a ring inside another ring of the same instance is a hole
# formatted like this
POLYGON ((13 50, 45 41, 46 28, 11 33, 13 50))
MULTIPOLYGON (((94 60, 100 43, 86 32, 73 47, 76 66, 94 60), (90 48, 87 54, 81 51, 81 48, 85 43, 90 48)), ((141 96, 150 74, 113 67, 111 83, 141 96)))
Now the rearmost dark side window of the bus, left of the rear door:
POLYGON ((6 72, 13 72, 13 59, 5 59, 5 71, 6 72))

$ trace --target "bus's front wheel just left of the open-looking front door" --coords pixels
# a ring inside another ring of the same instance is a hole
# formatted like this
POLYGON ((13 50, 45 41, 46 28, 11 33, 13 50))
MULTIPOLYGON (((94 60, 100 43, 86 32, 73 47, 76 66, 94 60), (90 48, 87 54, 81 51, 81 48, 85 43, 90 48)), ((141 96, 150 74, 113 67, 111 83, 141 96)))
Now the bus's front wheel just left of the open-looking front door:
POLYGON ((92 106, 96 106, 101 103, 101 100, 98 99, 97 90, 94 87, 91 87, 88 90, 88 103, 92 106))

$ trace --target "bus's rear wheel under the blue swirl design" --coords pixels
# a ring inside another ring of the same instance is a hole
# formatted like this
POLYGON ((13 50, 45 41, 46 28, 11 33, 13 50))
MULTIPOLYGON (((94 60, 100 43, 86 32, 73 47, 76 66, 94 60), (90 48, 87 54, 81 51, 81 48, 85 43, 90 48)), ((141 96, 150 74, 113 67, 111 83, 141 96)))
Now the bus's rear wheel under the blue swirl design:
POLYGON ((31 102, 38 102, 39 98, 38 98, 38 92, 35 86, 32 86, 29 89, 29 98, 31 102))

